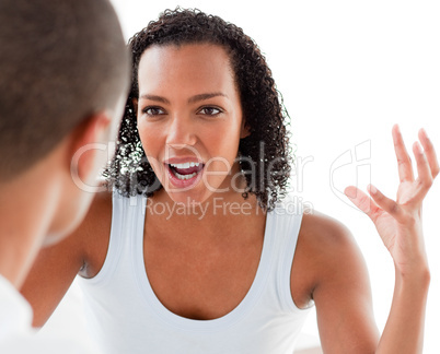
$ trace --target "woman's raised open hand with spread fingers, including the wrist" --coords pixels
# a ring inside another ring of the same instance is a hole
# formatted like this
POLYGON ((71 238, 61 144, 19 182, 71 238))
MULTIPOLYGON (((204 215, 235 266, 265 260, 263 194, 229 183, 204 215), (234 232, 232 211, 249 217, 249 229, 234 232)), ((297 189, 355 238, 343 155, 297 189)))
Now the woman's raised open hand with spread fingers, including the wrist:
POLYGON ((414 177, 412 160, 405 149, 398 126, 393 127, 394 150, 398 164, 400 185, 396 201, 385 197, 369 185, 367 196, 349 186, 345 194, 374 223, 384 245, 393 257, 396 270, 402 275, 419 274, 428 269, 421 228, 421 204, 425 196, 439 174, 436 151, 424 129, 418 142, 413 144, 417 163, 414 177))

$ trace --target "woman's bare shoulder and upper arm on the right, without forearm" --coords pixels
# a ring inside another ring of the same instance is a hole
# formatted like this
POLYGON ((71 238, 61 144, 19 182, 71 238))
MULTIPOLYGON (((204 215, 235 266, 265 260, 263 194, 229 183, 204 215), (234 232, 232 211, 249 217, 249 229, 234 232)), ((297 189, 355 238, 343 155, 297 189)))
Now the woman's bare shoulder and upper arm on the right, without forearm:
POLYGON ((317 211, 303 216, 291 284, 299 307, 314 300, 323 353, 374 353, 379 331, 367 267, 341 223, 317 211))

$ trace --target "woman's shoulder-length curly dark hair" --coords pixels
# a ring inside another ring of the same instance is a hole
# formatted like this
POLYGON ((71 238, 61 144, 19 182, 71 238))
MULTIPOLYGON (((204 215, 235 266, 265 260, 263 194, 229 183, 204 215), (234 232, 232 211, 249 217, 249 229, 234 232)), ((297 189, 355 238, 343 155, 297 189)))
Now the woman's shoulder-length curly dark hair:
POLYGON ((288 114, 276 90, 271 71, 257 45, 234 24, 207 15, 199 10, 165 10, 158 21, 137 33, 130 40, 132 84, 119 128, 116 153, 104 170, 108 187, 123 196, 144 193, 150 197, 162 188, 142 149, 137 130, 134 98, 139 96, 138 68, 141 55, 151 46, 208 43, 223 47, 242 104, 250 135, 239 145, 240 165, 247 188, 259 205, 271 210, 286 194, 290 175, 290 148, 286 129, 288 114))

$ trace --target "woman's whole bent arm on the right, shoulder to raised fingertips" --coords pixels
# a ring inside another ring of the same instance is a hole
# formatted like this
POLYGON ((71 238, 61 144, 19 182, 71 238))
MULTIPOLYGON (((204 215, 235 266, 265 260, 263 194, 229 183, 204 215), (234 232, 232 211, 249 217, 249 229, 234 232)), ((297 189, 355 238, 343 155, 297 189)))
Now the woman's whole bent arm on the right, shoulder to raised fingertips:
MULTIPOLYGON (((373 221, 395 266, 393 303, 382 335, 373 319, 367 269, 349 231, 329 217, 304 215, 298 244, 303 249, 300 253, 303 260, 299 257, 294 262, 306 264, 304 259, 317 255, 308 267, 315 274, 310 286, 324 353, 422 353, 430 279, 421 231, 421 202, 439 173, 439 165, 424 131, 419 138, 425 152, 414 145, 418 170, 415 179, 398 128, 393 128, 401 177, 396 201, 373 187, 371 198, 355 187, 346 190, 373 221)), ((293 299, 296 294, 299 292, 292 279, 293 299)))

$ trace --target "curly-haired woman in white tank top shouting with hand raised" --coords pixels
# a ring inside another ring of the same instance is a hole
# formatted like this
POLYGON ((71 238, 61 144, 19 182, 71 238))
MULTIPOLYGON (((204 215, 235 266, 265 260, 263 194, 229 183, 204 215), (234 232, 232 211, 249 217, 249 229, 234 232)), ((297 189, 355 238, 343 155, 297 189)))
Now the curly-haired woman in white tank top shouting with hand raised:
POLYGON ((346 189, 395 264, 379 335, 350 233, 280 202, 291 160, 286 115, 252 39, 219 17, 176 10, 130 46, 134 82, 105 173, 116 191, 96 196, 74 235, 39 256, 24 288, 35 324, 79 273, 89 327, 107 353, 291 353, 313 304, 325 353, 421 353, 421 201, 439 172, 425 131, 415 180, 393 128, 396 202, 372 186, 372 200, 346 189))

